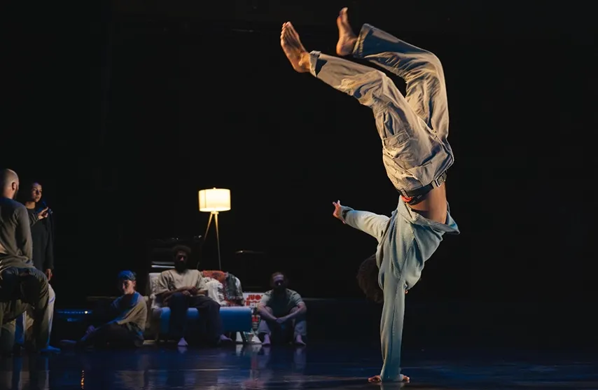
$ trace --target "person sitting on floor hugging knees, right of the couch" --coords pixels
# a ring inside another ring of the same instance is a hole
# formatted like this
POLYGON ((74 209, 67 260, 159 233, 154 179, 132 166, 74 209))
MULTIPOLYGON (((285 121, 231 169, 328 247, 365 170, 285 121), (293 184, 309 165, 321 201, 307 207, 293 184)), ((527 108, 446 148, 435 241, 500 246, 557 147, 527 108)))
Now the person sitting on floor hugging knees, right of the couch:
POLYGON ((307 306, 297 291, 288 286, 288 280, 282 272, 274 272, 270 277, 272 290, 262 295, 258 304, 260 326, 258 333, 263 339, 262 345, 274 342, 286 342, 293 333, 293 342, 303 346, 307 335, 305 312, 307 306))

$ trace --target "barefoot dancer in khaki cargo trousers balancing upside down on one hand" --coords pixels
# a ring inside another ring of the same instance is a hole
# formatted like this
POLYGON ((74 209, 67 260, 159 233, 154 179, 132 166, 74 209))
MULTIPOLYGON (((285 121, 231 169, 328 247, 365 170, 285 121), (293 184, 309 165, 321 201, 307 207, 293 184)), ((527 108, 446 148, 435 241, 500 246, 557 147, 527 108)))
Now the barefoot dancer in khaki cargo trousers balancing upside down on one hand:
MULTIPOLYGON (((405 96, 382 71, 307 52, 290 22, 282 26, 280 41, 295 71, 309 72, 373 109, 384 167, 401 195, 398 206, 388 217, 333 202, 333 215, 378 241, 375 260, 379 272, 373 282, 382 288, 384 298, 380 323, 384 364, 380 375, 369 380, 407 382, 409 377, 401 374, 405 291, 417 283, 424 262, 443 235, 459 234, 444 186, 447 169, 454 161, 447 141, 445 78, 440 61, 429 51, 370 25, 354 34, 347 8, 340 11, 337 25, 337 54, 368 60, 402 77, 407 85, 405 96)), ((366 289, 363 281, 361 286, 366 289)))

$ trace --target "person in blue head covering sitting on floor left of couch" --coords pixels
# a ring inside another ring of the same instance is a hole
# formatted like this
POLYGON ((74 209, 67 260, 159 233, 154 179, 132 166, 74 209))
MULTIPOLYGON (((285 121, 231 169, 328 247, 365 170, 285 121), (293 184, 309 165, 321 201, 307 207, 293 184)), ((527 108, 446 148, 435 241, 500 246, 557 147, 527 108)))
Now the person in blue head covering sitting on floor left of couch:
POLYGON ((118 274, 118 282, 123 295, 110 305, 113 320, 95 328, 90 326, 81 340, 63 340, 65 347, 141 347, 144 344, 144 330, 148 316, 144 297, 138 293, 137 276, 134 272, 118 274))

